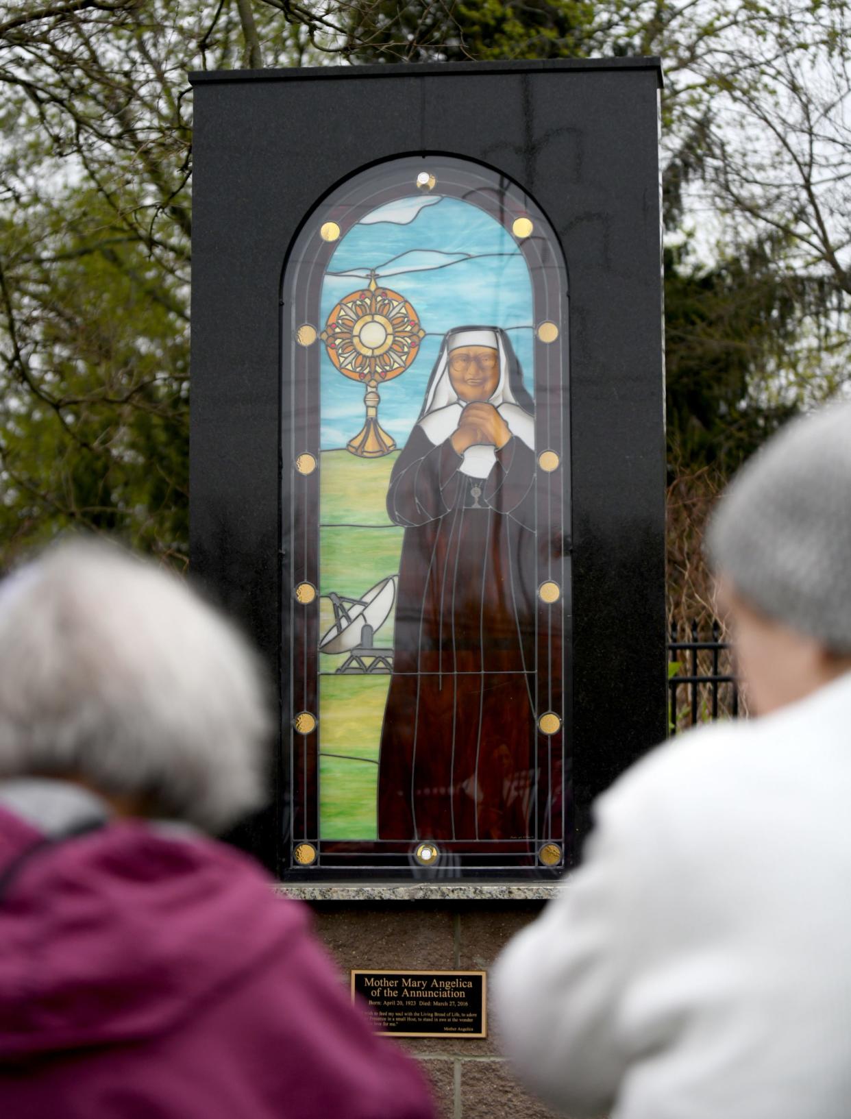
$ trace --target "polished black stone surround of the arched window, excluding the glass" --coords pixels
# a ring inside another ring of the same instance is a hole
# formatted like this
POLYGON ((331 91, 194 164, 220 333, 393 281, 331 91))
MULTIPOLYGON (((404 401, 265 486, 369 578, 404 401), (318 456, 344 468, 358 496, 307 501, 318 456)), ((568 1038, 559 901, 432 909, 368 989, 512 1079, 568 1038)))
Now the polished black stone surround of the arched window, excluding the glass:
MULTIPOLYGON (((290 610, 278 300, 311 209, 370 163, 447 153, 522 185, 559 236, 570 289, 565 714, 581 833, 592 799, 665 734, 658 60, 234 72, 192 83, 192 571, 254 636, 273 679, 290 610)), ((238 835, 271 867, 285 846, 281 801, 238 835)))

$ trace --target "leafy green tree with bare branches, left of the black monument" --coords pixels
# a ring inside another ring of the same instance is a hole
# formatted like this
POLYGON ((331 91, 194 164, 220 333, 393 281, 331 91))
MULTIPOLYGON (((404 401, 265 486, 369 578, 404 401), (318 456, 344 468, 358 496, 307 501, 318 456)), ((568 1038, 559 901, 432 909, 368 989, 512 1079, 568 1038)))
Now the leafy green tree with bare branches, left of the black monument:
POLYGON ((186 564, 186 75, 259 36, 308 57, 242 0, 0 3, 0 566, 68 527, 186 564))

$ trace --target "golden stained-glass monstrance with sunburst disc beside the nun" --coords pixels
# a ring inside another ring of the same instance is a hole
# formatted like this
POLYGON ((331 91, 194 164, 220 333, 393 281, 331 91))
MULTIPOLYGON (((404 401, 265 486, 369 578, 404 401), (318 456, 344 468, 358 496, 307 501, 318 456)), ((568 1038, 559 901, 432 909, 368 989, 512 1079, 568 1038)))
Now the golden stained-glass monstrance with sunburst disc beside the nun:
POLYGON ((378 423, 378 383, 405 373, 417 356, 425 337, 417 312, 404 295, 379 286, 372 273, 368 288, 350 292, 333 308, 320 337, 334 367, 366 385, 366 423, 347 449, 363 459, 395 451, 395 441, 378 423))

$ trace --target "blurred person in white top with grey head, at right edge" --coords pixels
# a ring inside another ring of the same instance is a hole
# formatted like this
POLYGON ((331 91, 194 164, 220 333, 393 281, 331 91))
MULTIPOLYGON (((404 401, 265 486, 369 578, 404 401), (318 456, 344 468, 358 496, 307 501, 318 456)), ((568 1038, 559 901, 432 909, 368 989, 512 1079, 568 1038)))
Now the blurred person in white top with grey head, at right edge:
POLYGON ((493 976, 566 1113, 845 1119, 851 1099, 851 405, 800 419, 709 526, 756 717, 652 751, 493 976))

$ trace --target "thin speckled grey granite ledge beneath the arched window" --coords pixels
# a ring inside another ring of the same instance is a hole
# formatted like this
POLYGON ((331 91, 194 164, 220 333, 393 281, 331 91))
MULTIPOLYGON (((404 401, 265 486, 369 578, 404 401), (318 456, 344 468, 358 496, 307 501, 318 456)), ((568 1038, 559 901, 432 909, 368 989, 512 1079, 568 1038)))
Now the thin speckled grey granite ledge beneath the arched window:
POLYGON ((305 902, 504 902, 547 901, 564 887, 564 882, 403 882, 403 883, 305 883, 278 882, 276 894, 305 902))

